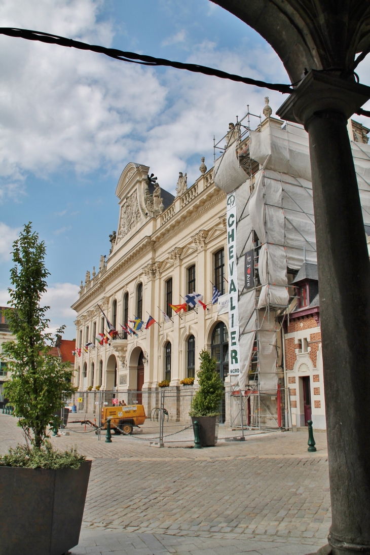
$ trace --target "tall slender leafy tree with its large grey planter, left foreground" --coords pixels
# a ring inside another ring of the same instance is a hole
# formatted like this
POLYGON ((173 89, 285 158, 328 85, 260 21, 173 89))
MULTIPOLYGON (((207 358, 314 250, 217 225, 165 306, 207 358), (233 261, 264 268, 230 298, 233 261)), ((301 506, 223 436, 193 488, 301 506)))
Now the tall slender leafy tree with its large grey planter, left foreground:
POLYGON ((77 545, 89 481, 91 461, 48 441, 63 396, 75 388, 69 363, 49 354, 49 307, 40 306, 49 275, 44 258, 29 223, 13 244, 7 320, 16 340, 2 354, 11 371, 5 394, 26 444, 0 456, 0 555, 62 555, 77 545))

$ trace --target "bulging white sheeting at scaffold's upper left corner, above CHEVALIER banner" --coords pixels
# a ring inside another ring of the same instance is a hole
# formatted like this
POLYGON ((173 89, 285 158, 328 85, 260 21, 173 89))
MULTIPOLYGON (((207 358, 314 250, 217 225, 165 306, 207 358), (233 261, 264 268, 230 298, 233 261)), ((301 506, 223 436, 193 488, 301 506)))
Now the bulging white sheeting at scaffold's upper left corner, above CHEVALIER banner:
POLYGON ((244 169, 239 165, 234 143, 215 162, 213 171, 215 185, 229 194, 244 183, 247 177, 244 169))

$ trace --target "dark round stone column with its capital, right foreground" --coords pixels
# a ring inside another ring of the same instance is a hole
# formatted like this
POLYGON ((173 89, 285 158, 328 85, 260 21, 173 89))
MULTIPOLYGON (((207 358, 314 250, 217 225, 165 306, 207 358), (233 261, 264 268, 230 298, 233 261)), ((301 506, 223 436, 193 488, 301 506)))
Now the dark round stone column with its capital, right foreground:
POLYGON ((316 73, 278 115, 305 124, 310 141, 332 501, 328 542, 336 555, 370 553, 370 264, 346 127, 370 88, 316 73))

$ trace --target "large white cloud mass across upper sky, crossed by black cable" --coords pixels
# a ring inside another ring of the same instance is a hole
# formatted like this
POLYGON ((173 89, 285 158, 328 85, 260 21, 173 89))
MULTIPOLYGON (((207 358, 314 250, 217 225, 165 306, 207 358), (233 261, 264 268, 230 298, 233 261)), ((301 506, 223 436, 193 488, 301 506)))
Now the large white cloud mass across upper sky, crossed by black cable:
MULTIPOLYGON (((98 18, 102 5, 103 0, 39 0, 34 7, 28 0, 4 0, 0 18, 3 26, 109 46, 113 30, 98 18)), ((179 31, 167 41, 185 38, 179 31)), ((192 47, 188 61, 287 82, 270 47, 246 51, 247 56, 221 51, 205 41, 192 47)), ((260 113, 266 94, 216 77, 171 68, 161 72, 12 37, 0 37, 0 73, 3 195, 9 194, 9 183, 21 187, 29 172, 47 176, 67 164, 79 173, 103 168, 118 176, 130 161, 150 165, 161 186, 174 190, 180 170, 187 171, 189 183, 199 175, 201 155, 212 165, 213 135, 222 137, 247 104, 260 113), (199 163, 187 164, 195 154, 199 163)), ((272 108, 283 98, 271 92, 272 108)))

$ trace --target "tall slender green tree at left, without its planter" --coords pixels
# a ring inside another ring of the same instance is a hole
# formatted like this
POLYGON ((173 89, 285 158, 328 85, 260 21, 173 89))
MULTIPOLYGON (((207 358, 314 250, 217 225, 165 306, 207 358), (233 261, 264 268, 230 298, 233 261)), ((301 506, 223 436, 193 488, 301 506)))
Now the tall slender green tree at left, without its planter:
MULTIPOLYGON (((6 309, 6 317, 16 340, 3 344, 1 358, 12 372, 4 384, 4 395, 15 407, 14 415, 26 438, 40 448, 48 437, 53 416, 63 406, 63 395, 75 391, 70 383, 73 370, 68 362, 49 355, 53 346, 49 320, 45 318, 49 306, 40 306, 40 300, 50 274, 44 264, 45 244, 32 233, 31 222, 14 241, 12 254, 14 289, 8 289, 12 308, 6 309)), ((57 334, 64 328, 60 327, 57 334)))

